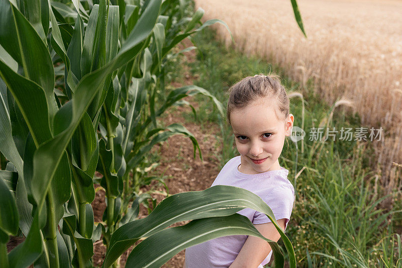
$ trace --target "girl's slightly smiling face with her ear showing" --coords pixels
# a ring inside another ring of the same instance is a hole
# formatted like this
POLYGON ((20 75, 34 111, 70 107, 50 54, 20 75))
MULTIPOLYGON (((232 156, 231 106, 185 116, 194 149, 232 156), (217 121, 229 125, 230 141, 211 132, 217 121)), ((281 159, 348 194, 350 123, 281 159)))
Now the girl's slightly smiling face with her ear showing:
POLYGON ((285 136, 291 134, 294 117, 290 114, 285 121, 278 120, 275 101, 270 98, 258 100, 230 114, 241 159, 238 169, 242 173, 258 174, 280 169, 278 158, 285 136))

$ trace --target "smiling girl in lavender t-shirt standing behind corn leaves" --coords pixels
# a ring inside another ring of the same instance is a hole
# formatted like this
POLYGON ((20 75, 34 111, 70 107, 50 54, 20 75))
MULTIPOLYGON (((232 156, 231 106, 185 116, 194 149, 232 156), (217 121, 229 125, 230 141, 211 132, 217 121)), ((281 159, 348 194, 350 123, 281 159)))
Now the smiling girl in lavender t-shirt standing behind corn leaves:
MULTIPOLYGON (((288 170, 278 161, 294 120, 289 114, 285 88, 274 75, 242 79, 229 89, 227 120, 240 156, 225 164, 212 186, 236 186, 258 195, 285 230, 294 202, 294 189, 287 180, 288 170)), ((279 240, 278 231, 265 214, 249 208, 237 213, 248 217, 264 237, 279 240)), ((262 268, 271 255, 271 247, 265 240, 232 235, 187 248, 184 267, 262 268)))

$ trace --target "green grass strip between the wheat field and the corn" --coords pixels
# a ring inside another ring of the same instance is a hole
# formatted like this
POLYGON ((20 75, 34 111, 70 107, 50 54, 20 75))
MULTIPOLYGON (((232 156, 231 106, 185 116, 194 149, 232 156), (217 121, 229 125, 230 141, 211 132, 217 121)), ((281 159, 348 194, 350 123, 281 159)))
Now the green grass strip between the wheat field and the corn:
MULTIPOLYGON (((336 141, 310 141, 310 129, 328 119, 332 109, 314 96, 311 81, 302 88, 288 79, 279 67, 226 49, 215 40, 214 31, 209 29, 195 35, 192 42, 198 47, 195 62, 186 63, 183 58, 179 62, 187 64, 192 75, 198 75, 194 84, 209 90, 225 107, 230 85, 245 76, 269 71, 283 77, 282 83, 289 92, 297 91, 304 95, 304 152, 300 150, 302 141, 296 148, 295 143, 289 140, 279 159, 281 166, 289 170, 288 178, 296 190, 295 207, 286 232, 293 244, 298 266, 386 267, 384 262, 396 265, 401 251, 397 247, 396 236, 396 244, 389 239, 393 230, 400 230, 401 214, 395 212, 401 208, 400 204, 395 204, 387 211, 379 209, 385 197, 379 187, 377 196, 374 196, 375 174, 370 164, 375 163, 375 159, 370 158, 374 155, 370 141, 342 141, 339 138, 336 141), (388 238, 383 239, 386 236, 388 238), (391 259, 393 250, 395 256, 391 259)), ((210 121, 222 126, 223 151, 217 152, 217 156, 223 166, 238 155, 233 135, 226 121, 217 117, 211 102, 203 97, 194 98, 199 103, 195 121, 200 125, 210 121)), ((301 99, 291 99, 290 113, 295 117, 294 125, 301 126, 301 99)), ((194 122, 191 113, 184 114, 184 117, 186 121, 194 122)), ((357 128, 360 127, 360 118, 338 107, 329 127, 337 130, 341 127, 357 128)), ((283 246, 281 242, 280 245, 283 246)), ((401 267, 400 262, 398 267, 401 267)))

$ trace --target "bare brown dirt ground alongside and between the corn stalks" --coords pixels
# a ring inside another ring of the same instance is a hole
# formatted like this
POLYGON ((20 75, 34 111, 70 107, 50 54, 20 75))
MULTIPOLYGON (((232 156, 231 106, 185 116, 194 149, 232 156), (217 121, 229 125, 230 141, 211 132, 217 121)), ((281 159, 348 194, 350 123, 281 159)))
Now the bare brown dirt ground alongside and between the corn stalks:
MULTIPOLYGON (((188 47, 190 45, 190 42, 186 40, 181 48, 188 47)), ((186 53, 185 61, 190 62, 193 61, 194 58, 195 52, 190 51, 189 53, 186 53)), ((184 84, 175 82, 172 85, 174 87, 189 85, 192 84, 193 80, 195 79, 195 77, 191 76, 186 66, 184 67, 183 76, 185 77, 184 84)), ((187 97, 184 98, 184 100, 188 101, 196 111, 198 110, 198 104, 192 101, 191 98, 187 97)), ((182 117, 183 112, 190 113, 190 107, 186 106, 169 109, 167 113, 165 113, 159 119, 159 125, 168 126, 173 123, 179 123, 186 127, 198 141, 202 152, 203 161, 199 158, 198 152, 196 158, 193 158, 192 143, 189 138, 183 135, 172 136, 162 145, 155 145, 152 148, 151 153, 157 152, 160 155, 160 161, 158 163, 159 165, 148 175, 167 175, 168 178, 165 180, 165 183, 169 189, 169 194, 171 195, 188 191, 205 190, 212 185, 215 177, 220 171, 219 159, 216 156, 219 155, 222 150, 222 139, 219 126, 211 122, 205 122, 204 127, 202 128, 192 122, 185 123, 185 120, 182 117)), ((142 187, 140 191, 146 192, 151 188, 155 188, 156 185, 157 183, 154 182, 149 186, 142 187)), ((157 187, 156 190, 165 192, 164 187, 157 187)), ((159 204, 165 198, 164 195, 159 194, 152 194, 152 197, 157 199, 157 204, 159 204)), ((101 217, 106 208, 105 192, 103 190, 96 192, 95 200, 92 202, 92 208, 94 211, 95 221, 102 220, 101 217)), ((143 205, 140 205, 139 218, 144 218, 147 215, 147 209, 143 205)), ((189 221, 179 222, 173 224, 171 227, 184 225, 188 222, 189 221)), ((125 265, 126 258, 131 249, 132 248, 122 255, 120 260, 122 267, 125 265)), ((105 252, 106 249, 102 242, 95 242, 93 255, 94 266, 102 265, 102 260, 105 258, 105 252)), ((162 267, 182 267, 184 257, 185 251, 183 250, 176 254, 162 267)))

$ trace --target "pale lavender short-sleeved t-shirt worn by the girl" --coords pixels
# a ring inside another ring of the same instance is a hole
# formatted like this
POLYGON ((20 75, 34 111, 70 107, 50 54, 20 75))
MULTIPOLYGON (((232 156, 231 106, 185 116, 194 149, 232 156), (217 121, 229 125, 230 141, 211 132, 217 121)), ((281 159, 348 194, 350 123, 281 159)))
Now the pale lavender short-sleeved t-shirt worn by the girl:
MULTIPOLYGON (((294 202, 293 185, 287 179, 289 171, 283 167, 259 174, 244 174, 238 170, 240 155, 230 159, 219 172, 212 186, 229 185, 246 189, 258 195, 272 210, 275 219, 285 218, 285 230, 294 202)), ((211 186, 211 187, 212 187, 211 186)), ((262 212, 245 208, 237 213, 246 216, 253 224, 271 222, 262 212)), ((229 267, 235 260, 248 235, 231 235, 186 248, 186 268, 229 267)), ((272 250, 261 262, 262 268, 271 259, 272 250)))

